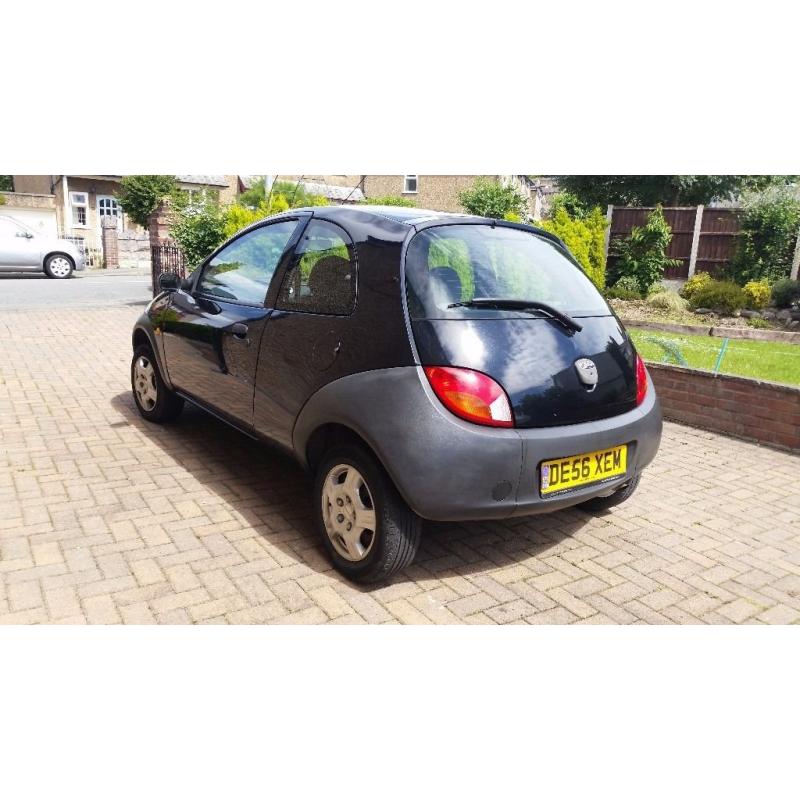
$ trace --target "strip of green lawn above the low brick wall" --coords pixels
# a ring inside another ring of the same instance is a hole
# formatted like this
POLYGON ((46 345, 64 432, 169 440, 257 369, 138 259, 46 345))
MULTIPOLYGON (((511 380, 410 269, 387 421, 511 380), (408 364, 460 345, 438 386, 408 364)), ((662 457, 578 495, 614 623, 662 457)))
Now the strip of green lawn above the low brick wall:
MULTIPOLYGON (((713 370, 723 342, 716 336, 686 336, 639 328, 632 328, 629 333, 645 361, 676 363, 672 356, 667 357, 660 341, 673 348, 677 346, 688 365, 696 369, 713 370)), ((719 371, 800 386, 800 345, 729 339, 719 371)))

